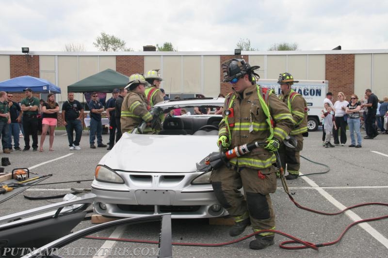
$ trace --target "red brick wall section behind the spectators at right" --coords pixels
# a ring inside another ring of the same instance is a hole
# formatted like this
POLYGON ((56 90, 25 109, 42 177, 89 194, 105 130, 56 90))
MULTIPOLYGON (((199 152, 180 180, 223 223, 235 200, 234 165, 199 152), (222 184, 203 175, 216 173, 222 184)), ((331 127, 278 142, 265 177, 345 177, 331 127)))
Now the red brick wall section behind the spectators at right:
POLYGON ((338 100, 339 91, 350 101, 350 95, 354 93, 354 75, 354 54, 326 55, 325 79, 329 81, 329 91, 333 92, 333 102, 338 100))

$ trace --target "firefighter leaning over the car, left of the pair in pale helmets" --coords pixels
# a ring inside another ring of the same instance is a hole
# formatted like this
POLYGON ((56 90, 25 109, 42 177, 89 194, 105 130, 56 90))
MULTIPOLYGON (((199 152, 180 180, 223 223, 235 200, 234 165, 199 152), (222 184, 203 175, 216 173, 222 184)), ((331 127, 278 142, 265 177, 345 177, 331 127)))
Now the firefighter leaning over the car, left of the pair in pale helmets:
POLYGON ((129 76, 129 83, 125 87, 128 89, 128 94, 124 98, 121 106, 121 132, 132 132, 134 128, 137 128, 142 121, 147 122, 147 127, 143 134, 152 134, 153 131, 150 127, 152 121, 152 115, 147 110, 147 100, 144 95, 148 82, 144 79, 144 76, 140 74, 134 74, 129 76))

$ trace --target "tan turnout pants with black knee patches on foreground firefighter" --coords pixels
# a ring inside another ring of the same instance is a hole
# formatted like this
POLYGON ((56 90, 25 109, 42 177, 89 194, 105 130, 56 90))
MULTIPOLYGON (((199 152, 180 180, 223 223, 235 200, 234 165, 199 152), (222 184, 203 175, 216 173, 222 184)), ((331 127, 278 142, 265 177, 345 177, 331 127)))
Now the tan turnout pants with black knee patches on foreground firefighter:
POLYGON ((221 206, 235 221, 250 217, 254 230, 275 229, 275 212, 270 197, 270 193, 276 190, 275 167, 257 170, 223 166, 213 170, 210 181, 221 206), (242 187, 244 195, 239 191, 242 187))

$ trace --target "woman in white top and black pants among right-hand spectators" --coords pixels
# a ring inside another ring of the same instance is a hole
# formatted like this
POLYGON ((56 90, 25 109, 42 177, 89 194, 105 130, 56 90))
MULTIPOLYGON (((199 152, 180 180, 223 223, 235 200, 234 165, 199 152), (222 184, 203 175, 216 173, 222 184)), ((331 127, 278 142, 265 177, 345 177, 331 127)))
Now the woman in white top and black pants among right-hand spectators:
POLYGON ((345 146, 346 143, 346 122, 344 115, 346 106, 348 106, 349 102, 345 100, 345 94, 343 92, 338 92, 338 100, 336 103, 334 103, 334 113, 335 113, 335 121, 337 125, 337 129, 334 130, 333 136, 334 136, 334 144, 341 146, 345 146), (340 138, 338 136, 338 131, 340 130, 340 138), (339 142, 340 140, 340 142, 339 142))

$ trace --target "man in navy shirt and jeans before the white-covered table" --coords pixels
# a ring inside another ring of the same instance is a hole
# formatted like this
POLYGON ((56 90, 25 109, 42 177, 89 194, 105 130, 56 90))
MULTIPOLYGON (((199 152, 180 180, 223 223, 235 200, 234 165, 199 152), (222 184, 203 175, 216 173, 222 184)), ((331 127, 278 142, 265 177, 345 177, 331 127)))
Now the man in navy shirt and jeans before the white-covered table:
POLYGON ((102 143, 102 122, 101 113, 104 112, 104 106, 97 100, 97 92, 92 92, 92 100, 89 102, 90 109, 90 132, 89 132, 89 143, 91 149, 96 149, 94 145, 96 134, 97 134, 97 147, 106 147, 102 143))

